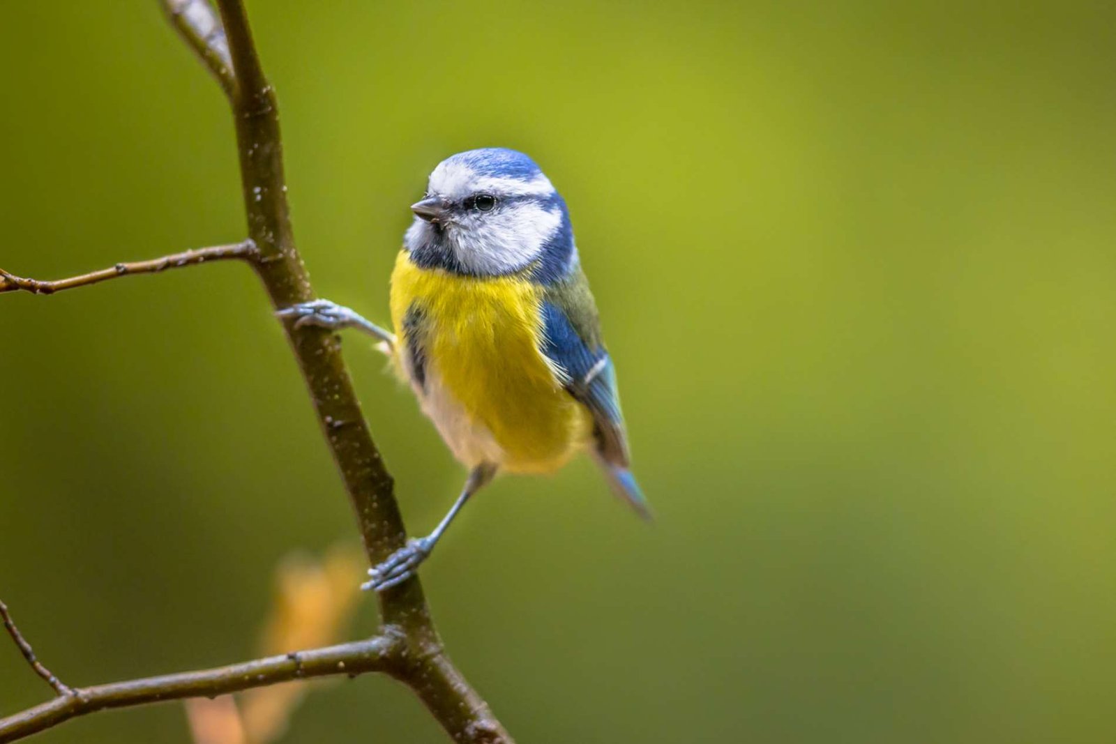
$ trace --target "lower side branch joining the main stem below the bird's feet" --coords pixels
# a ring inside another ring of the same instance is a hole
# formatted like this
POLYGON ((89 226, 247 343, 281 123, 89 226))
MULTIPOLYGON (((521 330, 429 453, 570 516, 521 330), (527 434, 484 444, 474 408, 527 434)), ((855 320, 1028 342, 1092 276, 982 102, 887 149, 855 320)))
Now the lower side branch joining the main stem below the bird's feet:
POLYGON ((338 646, 253 659, 200 671, 145 677, 94 687, 78 687, 65 696, 0 719, 0 744, 46 731, 78 716, 106 708, 185 697, 217 697, 291 679, 347 675, 389 669, 402 650, 394 636, 376 636, 338 646))

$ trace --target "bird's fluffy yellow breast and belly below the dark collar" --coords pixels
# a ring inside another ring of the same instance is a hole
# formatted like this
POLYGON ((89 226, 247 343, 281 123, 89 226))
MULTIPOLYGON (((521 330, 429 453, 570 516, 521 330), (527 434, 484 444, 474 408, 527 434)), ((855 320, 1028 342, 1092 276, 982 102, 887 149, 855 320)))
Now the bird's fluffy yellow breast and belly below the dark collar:
POLYGON ((395 262, 392 321, 401 345, 421 345, 425 360, 416 392, 466 465, 498 458, 510 472, 549 472, 588 441, 589 413, 539 351, 540 303, 541 290, 521 277, 420 269, 405 251, 395 262), (412 308, 415 338, 403 322, 412 308))

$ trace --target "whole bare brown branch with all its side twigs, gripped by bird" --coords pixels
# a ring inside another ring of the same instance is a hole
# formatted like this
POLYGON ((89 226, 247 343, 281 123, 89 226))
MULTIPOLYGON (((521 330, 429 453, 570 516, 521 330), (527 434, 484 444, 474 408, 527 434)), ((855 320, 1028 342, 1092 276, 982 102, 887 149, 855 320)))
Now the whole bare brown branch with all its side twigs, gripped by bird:
MULTIPOLYGON (((171 23, 217 78, 232 107, 240 156, 248 240, 122 263, 55 282, 0 272, 0 292, 50 293, 132 273, 196 265, 211 260, 248 262, 275 309, 315 299, 290 225, 283 178, 282 141, 275 91, 252 41, 243 0, 161 0, 171 23)), ((318 422, 356 511, 365 551, 379 563, 406 537, 394 482, 368 433, 360 404, 333 334, 316 328, 283 329, 306 379, 318 422), (344 422, 345 426, 338 426, 344 422)), ((0 744, 51 728, 107 707, 128 707, 184 697, 213 697, 290 679, 383 671, 406 684, 455 742, 513 744, 488 704, 446 655, 417 578, 378 595, 378 634, 364 641, 256 659, 229 667, 150 677, 95 687, 69 688, 37 661, 4 612, 8 632, 36 674, 58 694, 52 700, 0 719, 0 744), (51 682, 52 680, 52 682, 51 682)))

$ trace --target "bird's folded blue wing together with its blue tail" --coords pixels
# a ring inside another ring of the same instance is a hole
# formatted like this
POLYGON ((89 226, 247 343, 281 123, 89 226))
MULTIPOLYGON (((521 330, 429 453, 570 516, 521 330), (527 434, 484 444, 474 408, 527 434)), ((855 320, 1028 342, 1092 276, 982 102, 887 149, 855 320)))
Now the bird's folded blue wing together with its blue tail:
POLYGON ((587 345, 566 312, 549 300, 542 302, 542 352, 566 371, 566 389, 593 414, 597 462, 613 490, 643 516, 650 518, 647 502, 628 468, 627 434, 616 392, 616 371, 608 352, 604 346, 587 345))

